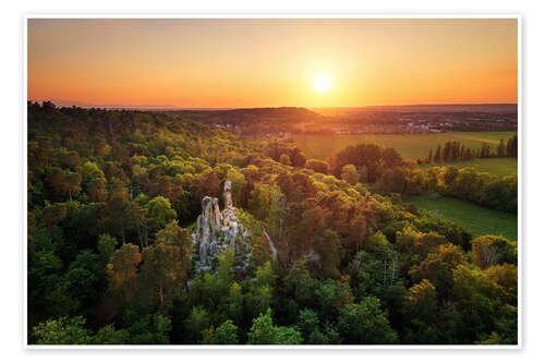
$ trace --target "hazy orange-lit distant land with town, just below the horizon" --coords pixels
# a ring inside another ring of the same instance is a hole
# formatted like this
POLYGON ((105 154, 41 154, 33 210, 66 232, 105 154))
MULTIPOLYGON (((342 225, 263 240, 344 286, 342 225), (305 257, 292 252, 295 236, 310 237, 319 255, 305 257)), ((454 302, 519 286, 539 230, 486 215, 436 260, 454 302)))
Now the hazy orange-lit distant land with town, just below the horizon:
MULTIPOLYGON (((162 112, 162 111, 161 111, 162 112)), ((239 135, 426 134, 516 131, 517 105, 428 105, 335 109, 171 110, 239 135)))

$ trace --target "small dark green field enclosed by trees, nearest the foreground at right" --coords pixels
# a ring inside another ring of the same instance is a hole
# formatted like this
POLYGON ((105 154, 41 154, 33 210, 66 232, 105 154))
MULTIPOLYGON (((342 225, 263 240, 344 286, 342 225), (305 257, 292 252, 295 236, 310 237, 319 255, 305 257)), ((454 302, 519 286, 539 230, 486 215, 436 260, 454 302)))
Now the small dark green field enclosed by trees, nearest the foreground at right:
POLYGON ((472 234, 496 234, 517 240, 517 215, 448 197, 411 196, 405 203, 414 203, 419 208, 437 213, 472 234))

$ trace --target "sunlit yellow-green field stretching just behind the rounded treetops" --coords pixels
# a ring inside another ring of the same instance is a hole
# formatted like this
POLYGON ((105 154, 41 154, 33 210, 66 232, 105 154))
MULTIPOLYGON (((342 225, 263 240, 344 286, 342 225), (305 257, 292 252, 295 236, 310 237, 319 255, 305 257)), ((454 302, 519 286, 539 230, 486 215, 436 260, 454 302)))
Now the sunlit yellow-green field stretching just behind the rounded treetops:
POLYGON ((361 143, 393 147, 404 159, 416 160, 427 157, 429 149, 435 152, 438 144, 459 141, 465 147, 479 148, 486 142, 497 145, 500 138, 506 142, 516 131, 506 132, 447 132, 437 134, 359 134, 359 135, 292 135, 307 158, 327 159, 349 145, 361 143))

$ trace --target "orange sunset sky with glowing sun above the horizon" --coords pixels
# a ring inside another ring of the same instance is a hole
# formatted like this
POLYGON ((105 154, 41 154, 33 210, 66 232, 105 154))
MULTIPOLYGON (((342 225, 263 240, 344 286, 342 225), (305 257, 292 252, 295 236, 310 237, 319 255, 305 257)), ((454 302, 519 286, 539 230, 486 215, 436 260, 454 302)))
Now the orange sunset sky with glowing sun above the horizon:
POLYGON ((517 102, 516 19, 28 20, 28 99, 180 108, 517 102))

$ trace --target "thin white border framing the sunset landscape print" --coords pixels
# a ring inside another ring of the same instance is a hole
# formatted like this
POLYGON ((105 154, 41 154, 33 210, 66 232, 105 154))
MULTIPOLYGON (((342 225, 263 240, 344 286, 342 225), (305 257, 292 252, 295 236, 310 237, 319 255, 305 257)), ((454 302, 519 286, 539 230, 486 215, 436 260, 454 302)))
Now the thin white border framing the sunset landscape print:
POLYGON ((23 32, 22 32, 22 58, 23 58, 23 68, 21 78, 23 82, 23 93, 22 93, 22 201, 23 201, 23 222, 22 222, 22 283, 23 287, 23 311, 22 311, 22 322, 23 322, 23 349, 26 350, 143 350, 143 349, 158 349, 158 350, 254 350, 254 349, 270 349, 270 350, 360 350, 360 349, 371 349, 371 350, 445 350, 445 349, 457 349, 457 350, 520 350, 522 349, 522 15, 520 14, 356 14, 356 13, 339 13, 339 14, 312 14, 312 13, 301 13, 296 12, 290 13, 271 13, 271 14, 263 14, 263 13, 242 13, 242 14, 229 14, 229 13, 218 13, 218 14, 208 14, 208 13, 193 13, 193 14, 126 14, 120 13, 116 14, 114 12, 109 12, 108 14, 102 13, 27 13, 23 15, 23 32), (373 344, 358 344, 358 346, 203 346, 203 344, 169 344, 169 346, 37 346, 37 344, 28 344, 27 341, 27 100, 28 100, 28 83, 27 83, 27 29, 28 29, 28 20, 34 19, 516 19, 517 20, 517 56, 518 56, 518 93, 517 93, 517 102, 518 102, 518 344, 517 346, 475 346, 475 344, 458 344, 458 346, 409 346, 409 344, 384 344, 384 346, 373 346, 373 344))

